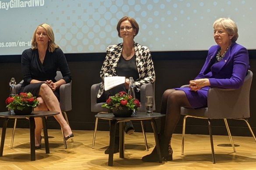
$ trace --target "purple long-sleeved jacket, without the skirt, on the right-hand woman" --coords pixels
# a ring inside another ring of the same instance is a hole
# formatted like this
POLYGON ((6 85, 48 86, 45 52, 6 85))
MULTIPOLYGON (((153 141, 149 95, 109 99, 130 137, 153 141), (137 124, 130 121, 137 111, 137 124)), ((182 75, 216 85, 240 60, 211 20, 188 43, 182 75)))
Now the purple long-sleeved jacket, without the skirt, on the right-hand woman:
POLYGON ((242 45, 233 42, 224 58, 212 65, 219 50, 219 45, 213 45, 209 49, 206 62, 195 80, 209 78, 211 87, 238 89, 250 68, 248 51, 242 45))

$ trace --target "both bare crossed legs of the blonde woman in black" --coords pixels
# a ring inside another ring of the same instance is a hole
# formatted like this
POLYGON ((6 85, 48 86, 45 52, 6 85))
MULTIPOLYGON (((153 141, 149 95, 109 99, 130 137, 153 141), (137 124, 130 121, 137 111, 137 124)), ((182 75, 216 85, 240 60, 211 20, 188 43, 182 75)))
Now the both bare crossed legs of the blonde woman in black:
MULTIPOLYGON (((70 126, 68 125, 67 121, 64 119, 63 115, 61 114, 60 104, 57 97, 53 94, 53 91, 50 87, 43 83, 40 87, 40 91, 38 94, 39 97, 39 106, 35 108, 38 111, 58 111, 60 114, 54 115, 54 118, 59 122, 61 128, 64 131, 64 136, 67 137, 72 133, 70 126)), ((41 131, 43 128, 42 119, 35 118, 36 129, 35 129, 35 145, 39 146, 41 144, 41 131)))

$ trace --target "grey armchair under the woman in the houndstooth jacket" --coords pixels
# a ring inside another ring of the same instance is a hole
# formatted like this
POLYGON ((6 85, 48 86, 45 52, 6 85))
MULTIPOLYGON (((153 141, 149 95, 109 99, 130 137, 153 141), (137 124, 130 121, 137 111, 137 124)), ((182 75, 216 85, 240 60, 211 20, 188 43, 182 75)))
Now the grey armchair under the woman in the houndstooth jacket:
MULTIPOLYGON (((91 111, 98 112, 98 114, 104 114, 104 113, 107 113, 107 108, 101 107, 101 105, 104 103, 97 103, 97 94, 98 94, 99 89, 100 89, 100 83, 93 84, 91 87, 91 111)), ((143 84, 141 86, 141 88, 140 88, 140 100, 141 101, 140 101, 139 111, 146 111, 146 105, 145 105, 146 96, 153 96, 153 99, 154 99, 153 110, 155 110, 155 83, 143 84)), ((92 139, 92 149, 94 149, 97 125, 98 125, 98 118, 96 118, 96 121, 95 121, 95 128, 94 128, 93 139, 92 139)), ((142 127, 142 133, 144 136, 146 150, 148 151, 149 149, 148 149, 148 144, 147 144, 146 133, 144 130, 143 121, 141 121, 141 127, 142 127)))

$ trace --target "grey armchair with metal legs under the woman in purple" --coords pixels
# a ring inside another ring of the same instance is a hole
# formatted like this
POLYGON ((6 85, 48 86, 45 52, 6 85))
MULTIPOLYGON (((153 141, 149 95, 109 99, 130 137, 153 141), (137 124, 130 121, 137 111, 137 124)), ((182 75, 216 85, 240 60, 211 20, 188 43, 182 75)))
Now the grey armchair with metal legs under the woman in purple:
MULTIPOLYGON (((203 118, 208 119, 208 128, 210 134, 210 143, 212 150, 213 163, 215 162, 215 154, 213 148, 213 136, 211 132, 211 119, 224 119, 229 139, 231 141, 231 145, 233 147, 234 152, 235 146, 234 142, 228 127, 227 119, 238 119, 244 120, 249 127, 250 132, 254 140, 256 141, 255 135, 252 132, 252 128, 249 125, 247 118, 250 117, 249 110, 249 95, 250 95, 250 87, 252 83, 252 72, 249 70, 245 77, 244 83, 239 89, 224 89, 212 87, 208 91, 208 107, 207 108, 183 108, 181 107, 181 114, 185 115, 183 119, 183 132, 182 132, 182 144, 181 144, 181 154, 184 154, 184 141, 185 141, 185 125, 186 118, 203 118)), ((185 85, 187 86, 187 85, 185 85)), ((182 87, 185 87, 182 86, 182 87)))

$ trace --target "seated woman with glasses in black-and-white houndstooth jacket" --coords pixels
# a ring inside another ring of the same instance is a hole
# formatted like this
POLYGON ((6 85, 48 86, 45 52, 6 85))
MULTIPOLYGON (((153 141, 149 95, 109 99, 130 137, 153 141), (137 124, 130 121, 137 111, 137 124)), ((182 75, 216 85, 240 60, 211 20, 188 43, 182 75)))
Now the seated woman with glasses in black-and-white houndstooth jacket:
MULTIPOLYGON (((117 32, 123 42, 107 47, 107 56, 100 70, 102 78, 98 92, 98 102, 106 102, 109 96, 114 96, 120 91, 128 92, 129 77, 133 77, 135 97, 140 100, 140 87, 142 84, 153 83, 156 79, 151 53, 148 47, 134 42, 134 37, 139 32, 139 24, 132 17, 122 17, 117 24, 117 32), (110 90, 104 90, 104 77, 125 76, 126 82, 110 90)), ((129 122, 125 125, 125 132, 132 134, 134 128, 129 122)), ((118 139, 115 142, 115 153, 118 152, 118 139)), ((108 153, 108 149, 105 151, 108 153)))

